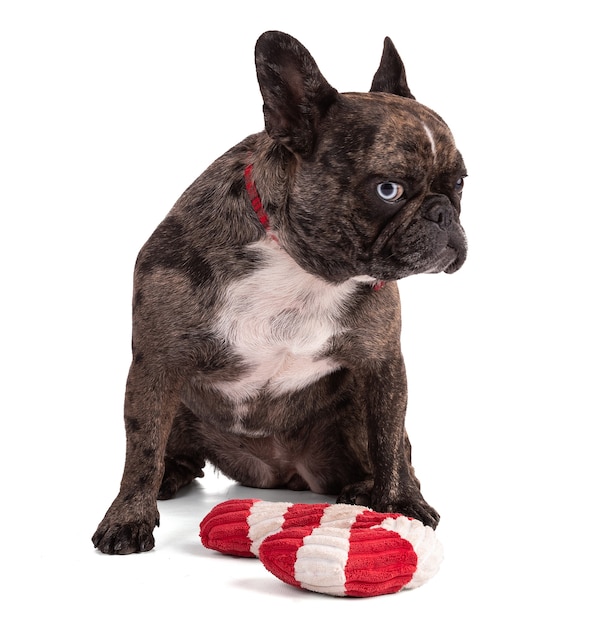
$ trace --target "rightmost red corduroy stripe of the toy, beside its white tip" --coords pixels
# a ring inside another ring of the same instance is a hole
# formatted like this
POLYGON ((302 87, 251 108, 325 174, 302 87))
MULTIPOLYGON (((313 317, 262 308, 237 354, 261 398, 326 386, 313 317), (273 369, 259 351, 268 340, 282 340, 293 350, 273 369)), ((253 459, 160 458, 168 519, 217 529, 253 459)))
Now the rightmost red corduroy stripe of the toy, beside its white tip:
POLYGON ((396 532, 380 528, 383 520, 383 514, 365 511, 351 527, 344 570, 348 596, 395 593, 411 580, 417 569, 417 554, 411 543, 396 532))

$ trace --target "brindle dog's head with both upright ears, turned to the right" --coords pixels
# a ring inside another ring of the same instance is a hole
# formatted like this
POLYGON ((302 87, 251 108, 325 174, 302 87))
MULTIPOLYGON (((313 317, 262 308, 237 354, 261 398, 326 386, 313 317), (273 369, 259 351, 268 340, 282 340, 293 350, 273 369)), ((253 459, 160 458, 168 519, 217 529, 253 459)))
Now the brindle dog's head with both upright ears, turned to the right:
POLYGON ((369 93, 339 93, 295 39, 256 46, 268 135, 289 155, 288 202, 275 216, 284 248, 329 281, 454 272, 463 159, 443 120, 407 86, 390 39, 369 93))

